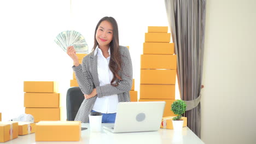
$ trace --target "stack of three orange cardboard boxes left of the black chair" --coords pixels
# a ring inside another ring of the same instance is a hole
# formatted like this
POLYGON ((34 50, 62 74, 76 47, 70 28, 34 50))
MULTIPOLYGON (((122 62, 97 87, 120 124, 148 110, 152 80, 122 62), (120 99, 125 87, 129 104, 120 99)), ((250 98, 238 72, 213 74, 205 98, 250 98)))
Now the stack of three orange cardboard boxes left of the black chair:
POLYGON ((34 122, 60 121, 60 93, 55 81, 24 81, 25 113, 34 122))

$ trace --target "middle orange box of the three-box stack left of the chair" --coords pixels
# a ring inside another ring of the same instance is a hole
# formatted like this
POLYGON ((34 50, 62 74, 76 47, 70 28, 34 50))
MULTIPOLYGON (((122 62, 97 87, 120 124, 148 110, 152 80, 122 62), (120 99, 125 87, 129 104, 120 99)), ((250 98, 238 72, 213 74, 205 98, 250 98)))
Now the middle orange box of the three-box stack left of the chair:
POLYGON ((60 93, 24 93, 24 107, 60 107, 60 93))

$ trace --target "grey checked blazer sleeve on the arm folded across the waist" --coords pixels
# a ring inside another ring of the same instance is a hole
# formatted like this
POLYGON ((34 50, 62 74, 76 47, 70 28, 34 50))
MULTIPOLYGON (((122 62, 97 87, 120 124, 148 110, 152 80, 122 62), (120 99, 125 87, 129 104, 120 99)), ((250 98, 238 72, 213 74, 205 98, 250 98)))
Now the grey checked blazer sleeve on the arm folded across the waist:
POLYGON ((127 47, 120 46, 121 59, 121 79, 117 87, 107 84, 104 86, 96 87, 97 96, 102 98, 106 95, 120 94, 131 91, 132 87, 132 62, 130 52, 127 47))

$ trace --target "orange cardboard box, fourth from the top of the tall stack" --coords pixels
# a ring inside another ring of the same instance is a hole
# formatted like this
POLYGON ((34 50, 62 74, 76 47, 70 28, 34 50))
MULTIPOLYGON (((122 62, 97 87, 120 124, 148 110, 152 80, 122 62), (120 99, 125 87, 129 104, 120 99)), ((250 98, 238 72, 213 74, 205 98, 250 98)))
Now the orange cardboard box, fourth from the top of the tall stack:
POLYGON ((141 55, 141 69, 176 69, 176 55, 141 55))

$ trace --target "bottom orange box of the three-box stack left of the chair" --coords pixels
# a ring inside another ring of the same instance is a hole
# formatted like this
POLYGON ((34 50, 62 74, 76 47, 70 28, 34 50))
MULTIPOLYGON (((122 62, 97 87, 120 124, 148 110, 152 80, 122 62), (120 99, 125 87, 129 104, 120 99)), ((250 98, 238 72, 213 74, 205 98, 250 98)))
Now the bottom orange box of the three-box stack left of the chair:
POLYGON ((39 121, 60 121, 60 107, 58 108, 29 108, 26 107, 25 113, 34 117, 34 122, 39 121))

